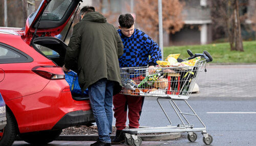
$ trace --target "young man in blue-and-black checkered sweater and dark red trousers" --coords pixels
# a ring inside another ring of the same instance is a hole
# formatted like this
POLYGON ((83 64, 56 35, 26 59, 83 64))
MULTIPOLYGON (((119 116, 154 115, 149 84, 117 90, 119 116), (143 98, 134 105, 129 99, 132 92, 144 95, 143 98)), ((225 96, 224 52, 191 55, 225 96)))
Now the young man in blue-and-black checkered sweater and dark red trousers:
MULTIPOLYGON (((120 67, 140 67, 147 66, 154 68, 157 60, 161 60, 161 50, 157 43, 144 32, 134 29, 134 18, 131 14, 120 15, 118 18, 118 33, 123 42, 123 55, 119 58, 120 67), (151 56, 149 59, 149 55, 151 56)), ((149 70, 150 73, 154 69, 149 70)), ((129 109, 129 127, 139 128, 139 118, 143 96, 131 96, 116 94, 113 98, 114 116, 116 118, 116 136, 111 141, 112 144, 124 142, 122 130, 126 127, 127 108, 129 109)))

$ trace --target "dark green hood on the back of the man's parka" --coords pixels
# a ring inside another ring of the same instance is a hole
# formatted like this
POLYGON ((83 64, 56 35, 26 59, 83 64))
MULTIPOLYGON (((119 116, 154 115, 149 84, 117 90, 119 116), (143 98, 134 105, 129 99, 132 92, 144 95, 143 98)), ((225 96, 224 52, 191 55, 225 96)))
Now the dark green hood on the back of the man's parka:
POLYGON ((99 12, 89 12, 86 15, 84 15, 83 20, 100 22, 100 23, 106 22, 106 18, 103 15, 101 15, 99 12))

